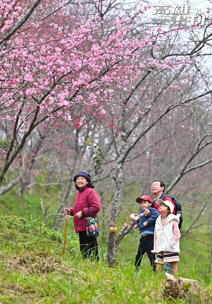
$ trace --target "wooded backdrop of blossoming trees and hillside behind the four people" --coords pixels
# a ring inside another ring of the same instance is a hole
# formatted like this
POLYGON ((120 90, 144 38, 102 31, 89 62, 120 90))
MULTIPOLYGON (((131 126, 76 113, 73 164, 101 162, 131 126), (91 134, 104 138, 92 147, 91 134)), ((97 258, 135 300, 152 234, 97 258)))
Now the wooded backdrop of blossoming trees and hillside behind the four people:
MULTIPOLYGON (((108 262, 118 252, 133 265, 139 234, 121 228, 139 211, 135 199, 151 195, 160 179, 182 203, 179 267, 207 277, 210 5, 195 12, 206 16, 204 26, 172 28, 154 22, 149 2, 1 5, 1 214, 60 231, 63 207, 74 202, 73 176, 86 170, 101 201, 103 257, 115 222, 121 232, 108 262)), ((74 233, 71 219, 67 233, 74 233)))

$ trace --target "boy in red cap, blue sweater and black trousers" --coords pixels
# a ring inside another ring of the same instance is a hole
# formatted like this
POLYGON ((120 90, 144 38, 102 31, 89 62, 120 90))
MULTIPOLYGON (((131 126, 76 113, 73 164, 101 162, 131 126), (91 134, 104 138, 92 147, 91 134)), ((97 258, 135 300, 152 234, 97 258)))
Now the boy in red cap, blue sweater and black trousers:
MULTIPOLYGON (((138 253, 135 257, 135 268, 139 270, 142 256, 145 254, 148 255, 150 264, 153 268, 153 271, 156 271, 155 264, 155 254, 151 252, 154 248, 154 230, 155 230, 155 222, 157 217, 159 216, 159 212, 152 208, 152 199, 149 195, 142 195, 142 197, 138 197, 136 202, 141 204, 141 208, 143 209, 139 214, 135 214, 139 216, 133 228, 136 229, 139 227, 139 233, 141 235, 140 244, 138 246, 138 253), (144 210, 149 209, 151 216, 145 216, 144 210)), ((135 221, 135 220, 134 220, 135 221)))

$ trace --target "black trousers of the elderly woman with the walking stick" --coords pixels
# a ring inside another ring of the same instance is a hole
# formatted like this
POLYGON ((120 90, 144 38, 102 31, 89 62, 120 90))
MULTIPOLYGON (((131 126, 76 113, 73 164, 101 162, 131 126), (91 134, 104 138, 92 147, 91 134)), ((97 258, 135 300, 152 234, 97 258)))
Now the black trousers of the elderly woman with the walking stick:
POLYGON ((98 244, 96 237, 88 237, 86 231, 79 232, 80 252, 82 258, 99 261, 98 244))

